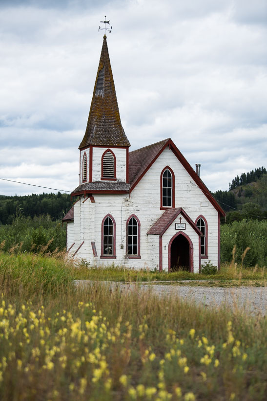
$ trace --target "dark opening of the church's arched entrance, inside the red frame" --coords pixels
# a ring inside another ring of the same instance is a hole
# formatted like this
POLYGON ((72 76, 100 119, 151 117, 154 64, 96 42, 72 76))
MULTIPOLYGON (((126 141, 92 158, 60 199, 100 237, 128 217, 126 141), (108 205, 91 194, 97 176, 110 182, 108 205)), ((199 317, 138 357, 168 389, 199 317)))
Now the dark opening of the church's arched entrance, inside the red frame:
POLYGON ((189 242, 182 234, 174 238, 170 247, 170 269, 175 271, 179 268, 190 271, 189 242))

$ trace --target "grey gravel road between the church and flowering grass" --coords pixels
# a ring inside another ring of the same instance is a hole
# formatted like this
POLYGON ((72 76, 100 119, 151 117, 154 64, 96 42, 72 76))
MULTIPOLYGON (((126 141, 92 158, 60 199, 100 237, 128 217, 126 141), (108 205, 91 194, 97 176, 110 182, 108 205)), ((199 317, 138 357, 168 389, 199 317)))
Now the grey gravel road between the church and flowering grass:
MULTIPOLYGON (((90 280, 75 280, 77 287, 88 287, 93 283, 90 280)), ((189 287, 168 284, 135 284, 120 283, 114 281, 100 282, 105 286, 116 288, 119 286, 122 290, 151 290, 159 296, 180 296, 184 299, 195 300, 205 306, 219 306, 226 304, 232 310, 237 308, 246 308, 246 311, 252 314, 266 314, 267 308, 267 287, 189 287)))

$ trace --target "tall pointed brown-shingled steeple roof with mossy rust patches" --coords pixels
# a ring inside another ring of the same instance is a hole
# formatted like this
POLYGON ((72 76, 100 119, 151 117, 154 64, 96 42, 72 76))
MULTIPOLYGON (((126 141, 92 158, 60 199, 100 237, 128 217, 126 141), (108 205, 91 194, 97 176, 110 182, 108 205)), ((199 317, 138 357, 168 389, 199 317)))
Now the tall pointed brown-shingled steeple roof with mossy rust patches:
POLYGON ((79 149, 89 145, 130 146, 121 123, 105 35, 87 127, 79 149))

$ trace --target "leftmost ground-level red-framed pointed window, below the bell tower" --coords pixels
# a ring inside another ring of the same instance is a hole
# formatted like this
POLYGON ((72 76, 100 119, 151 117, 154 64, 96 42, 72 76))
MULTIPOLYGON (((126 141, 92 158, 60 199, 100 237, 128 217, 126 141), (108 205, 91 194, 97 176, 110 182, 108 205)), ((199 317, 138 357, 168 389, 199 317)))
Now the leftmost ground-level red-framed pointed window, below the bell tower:
POLYGON ((110 214, 102 221, 101 258, 116 259, 116 223, 110 214))

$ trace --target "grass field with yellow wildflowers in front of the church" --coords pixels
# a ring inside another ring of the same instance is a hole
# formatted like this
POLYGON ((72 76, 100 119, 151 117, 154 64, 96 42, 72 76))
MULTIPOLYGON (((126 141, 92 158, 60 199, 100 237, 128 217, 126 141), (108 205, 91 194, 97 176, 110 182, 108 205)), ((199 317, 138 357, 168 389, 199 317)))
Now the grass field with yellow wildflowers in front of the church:
MULTIPOLYGON (((0 400, 266 399, 264 317, 138 288, 123 294, 96 281, 75 290, 84 269, 60 258, 0 253, 0 400)), ((238 268, 231 269, 224 277, 238 279, 238 268)), ((162 279, 103 270, 86 274, 162 279)), ((264 270, 254 270, 242 269, 243 279, 265 279, 264 270)))

